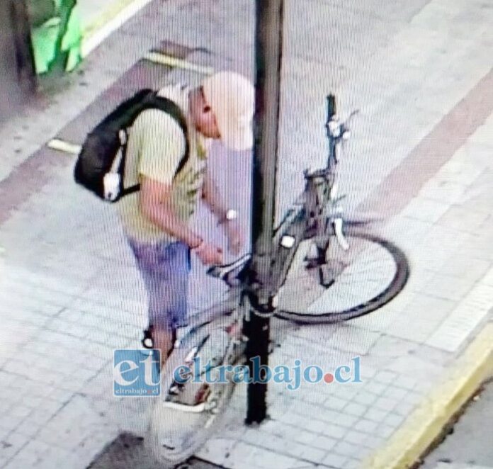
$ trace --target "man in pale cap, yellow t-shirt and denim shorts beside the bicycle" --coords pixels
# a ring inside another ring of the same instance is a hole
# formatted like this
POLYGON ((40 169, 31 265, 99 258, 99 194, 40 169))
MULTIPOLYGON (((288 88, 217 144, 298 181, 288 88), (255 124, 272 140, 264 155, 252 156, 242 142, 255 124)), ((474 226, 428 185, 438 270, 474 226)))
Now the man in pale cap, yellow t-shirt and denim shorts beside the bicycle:
POLYGON ((143 343, 160 349, 163 362, 176 327, 185 324, 190 253, 205 265, 222 262, 220 249, 188 227, 200 196, 225 227, 228 249, 238 254, 242 247, 234 210, 222 203, 208 174, 206 139, 220 139, 233 150, 251 148, 254 87, 242 75, 219 72, 198 88, 166 86, 158 96, 174 101, 186 118, 188 159, 176 173, 187 147, 176 120, 155 109, 142 112, 130 130, 124 183, 140 183, 140 191, 118 205, 147 288, 149 329, 143 343))

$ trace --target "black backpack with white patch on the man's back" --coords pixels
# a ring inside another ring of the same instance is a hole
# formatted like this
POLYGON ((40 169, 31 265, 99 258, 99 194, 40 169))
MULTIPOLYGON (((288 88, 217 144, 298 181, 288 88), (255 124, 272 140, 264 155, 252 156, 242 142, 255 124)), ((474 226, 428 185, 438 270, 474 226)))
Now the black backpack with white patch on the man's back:
POLYGON ((75 164, 74 178, 77 183, 109 202, 116 202, 140 189, 140 184, 124 188, 123 180, 128 129, 146 109, 164 111, 180 125, 185 135, 186 151, 175 176, 183 169, 189 153, 186 119, 176 103, 157 96, 156 91, 144 89, 121 103, 87 135, 75 164))

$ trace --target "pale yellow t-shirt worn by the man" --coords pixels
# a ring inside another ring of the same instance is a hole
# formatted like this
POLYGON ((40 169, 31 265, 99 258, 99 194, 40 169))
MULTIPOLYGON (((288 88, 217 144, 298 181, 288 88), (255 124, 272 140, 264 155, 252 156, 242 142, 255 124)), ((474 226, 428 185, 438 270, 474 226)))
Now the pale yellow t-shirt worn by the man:
MULTIPOLYGON (((124 187, 142 182, 142 177, 171 184, 171 207, 184 222, 193 214, 201 195, 207 169, 203 137, 191 125, 188 116, 188 89, 166 86, 159 96, 170 98, 186 116, 189 154, 183 169, 176 169, 186 151, 186 140, 179 124, 157 109, 142 112, 129 132, 125 159, 124 187)), ((169 233, 154 225, 140 210, 140 192, 125 196, 116 204, 125 232, 138 241, 173 242, 169 233)))

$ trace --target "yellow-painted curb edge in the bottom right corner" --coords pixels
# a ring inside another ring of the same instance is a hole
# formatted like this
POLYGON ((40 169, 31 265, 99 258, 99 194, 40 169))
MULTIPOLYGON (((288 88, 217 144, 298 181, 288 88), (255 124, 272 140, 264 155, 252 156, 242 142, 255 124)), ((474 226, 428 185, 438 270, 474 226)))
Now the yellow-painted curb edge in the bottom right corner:
POLYGON ((477 388, 493 375, 493 323, 483 327, 443 380, 389 441, 365 459, 366 469, 412 468, 477 388))

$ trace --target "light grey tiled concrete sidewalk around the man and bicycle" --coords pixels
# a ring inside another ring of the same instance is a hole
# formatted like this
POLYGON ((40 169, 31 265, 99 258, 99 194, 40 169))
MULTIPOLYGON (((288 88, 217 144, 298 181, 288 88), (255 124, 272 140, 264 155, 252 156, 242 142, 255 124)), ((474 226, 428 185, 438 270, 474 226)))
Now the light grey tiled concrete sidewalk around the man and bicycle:
MULTIPOLYGON (((227 468, 406 467, 387 464, 385 454, 399 449, 396 435, 491 320, 493 101, 485 91, 480 105, 470 103, 489 83, 493 9, 479 0, 370 4, 288 2, 278 217, 290 202, 285 194, 294 198, 302 186, 301 170, 324 161, 324 96, 334 91, 343 113, 358 107, 362 116, 340 171, 348 211, 366 203, 388 215, 375 230, 405 249, 412 277, 392 303, 346 324, 275 321, 280 347, 272 363, 297 358, 332 370, 361 356, 363 383, 305 385, 296 393, 273 385, 271 419, 259 429, 242 423, 246 389, 238 386, 225 428, 199 454, 227 468), (455 147, 436 130, 450 125, 454 109, 461 113, 451 127, 460 136, 455 147), (420 155, 426 136, 434 147, 420 155), (421 166, 403 179, 398 169, 409 162, 421 166), (399 203, 389 205, 385 188, 396 184, 399 203)), ((74 81, 44 111, 30 110, 0 131, 13 142, 6 140, 0 183, 11 200, 0 227, 0 377, 8 385, 0 402, 1 467, 84 468, 120 431, 145 429, 142 402, 111 397, 113 349, 137 347, 145 324, 142 283, 115 213, 75 188, 72 157, 45 147, 28 155, 163 38, 206 44, 214 55, 189 58, 251 76, 249 1, 207 9, 154 1, 88 57, 84 85, 74 81), (21 122, 30 130, 21 132, 21 122)), ((62 136, 80 143, 86 130, 65 128, 62 136)), ((249 162, 216 148, 211 166, 246 222, 249 162)), ((219 237, 204 210, 195 223, 219 237)), ((193 305, 213 300, 202 274, 195 269, 193 305)))

